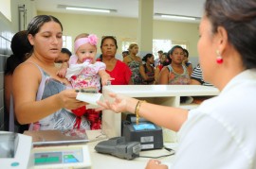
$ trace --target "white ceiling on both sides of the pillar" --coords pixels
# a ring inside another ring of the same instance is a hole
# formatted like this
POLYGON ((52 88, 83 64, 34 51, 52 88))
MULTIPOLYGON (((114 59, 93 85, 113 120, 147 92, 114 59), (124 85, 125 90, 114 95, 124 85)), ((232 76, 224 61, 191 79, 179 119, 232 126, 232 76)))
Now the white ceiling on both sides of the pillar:
MULTIPOLYGON (((138 2, 139 0, 34 0, 36 8, 40 11, 51 12, 65 12, 65 13, 79 13, 90 15, 106 15, 116 17, 138 17, 138 2), (111 13, 96 13, 85 11, 66 10, 58 8, 58 5, 69 5, 75 7, 85 8, 104 8, 115 9, 116 12, 111 13)), ((203 13, 203 6, 205 0, 154 0, 154 13, 165 13, 181 16, 192 16, 200 18, 203 13)), ((160 16, 154 16, 156 20, 172 20, 177 19, 163 19, 160 16)), ((185 21, 182 22, 199 22, 185 21)))

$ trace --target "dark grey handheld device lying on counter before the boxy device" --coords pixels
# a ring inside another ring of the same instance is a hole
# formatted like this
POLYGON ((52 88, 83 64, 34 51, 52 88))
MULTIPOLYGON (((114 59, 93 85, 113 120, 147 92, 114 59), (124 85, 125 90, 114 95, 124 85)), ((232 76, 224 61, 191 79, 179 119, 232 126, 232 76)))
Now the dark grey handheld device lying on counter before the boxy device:
POLYGON ((97 144, 94 149, 103 154, 110 154, 121 159, 132 160, 139 156, 139 142, 126 142, 124 137, 114 137, 97 144))

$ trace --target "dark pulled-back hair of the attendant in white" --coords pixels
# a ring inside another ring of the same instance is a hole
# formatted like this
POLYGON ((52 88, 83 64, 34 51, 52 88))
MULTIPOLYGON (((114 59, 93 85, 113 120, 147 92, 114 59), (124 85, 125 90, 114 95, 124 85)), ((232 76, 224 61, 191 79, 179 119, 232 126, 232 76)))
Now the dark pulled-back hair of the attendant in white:
POLYGON ((212 33, 217 32, 218 26, 223 26, 246 69, 255 68, 256 1, 207 0, 205 15, 212 25, 212 33))

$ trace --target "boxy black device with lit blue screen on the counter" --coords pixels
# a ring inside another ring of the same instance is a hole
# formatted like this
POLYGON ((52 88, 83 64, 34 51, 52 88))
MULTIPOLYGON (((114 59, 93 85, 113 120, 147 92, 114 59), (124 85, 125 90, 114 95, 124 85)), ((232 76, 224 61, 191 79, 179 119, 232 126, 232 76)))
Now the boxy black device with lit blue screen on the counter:
POLYGON ((139 118, 136 124, 136 116, 128 114, 126 121, 122 122, 122 136, 126 142, 139 142, 141 150, 160 149, 163 147, 162 128, 144 118, 139 118))

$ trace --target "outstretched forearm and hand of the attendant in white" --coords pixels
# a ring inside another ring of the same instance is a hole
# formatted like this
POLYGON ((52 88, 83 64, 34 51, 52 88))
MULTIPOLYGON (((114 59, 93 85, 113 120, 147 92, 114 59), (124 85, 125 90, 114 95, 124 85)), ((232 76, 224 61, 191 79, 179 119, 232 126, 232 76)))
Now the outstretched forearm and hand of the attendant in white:
MULTIPOLYGON (((115 93, 110 93, 109 95, 114 98, 113 102, 98 102, 103 109, 135 113, 137 99, 115 93)), ((143 102, 139 107, 139 116, 144 117, 158 126, 178 131, 188 118, 188 110, 143 102)))

